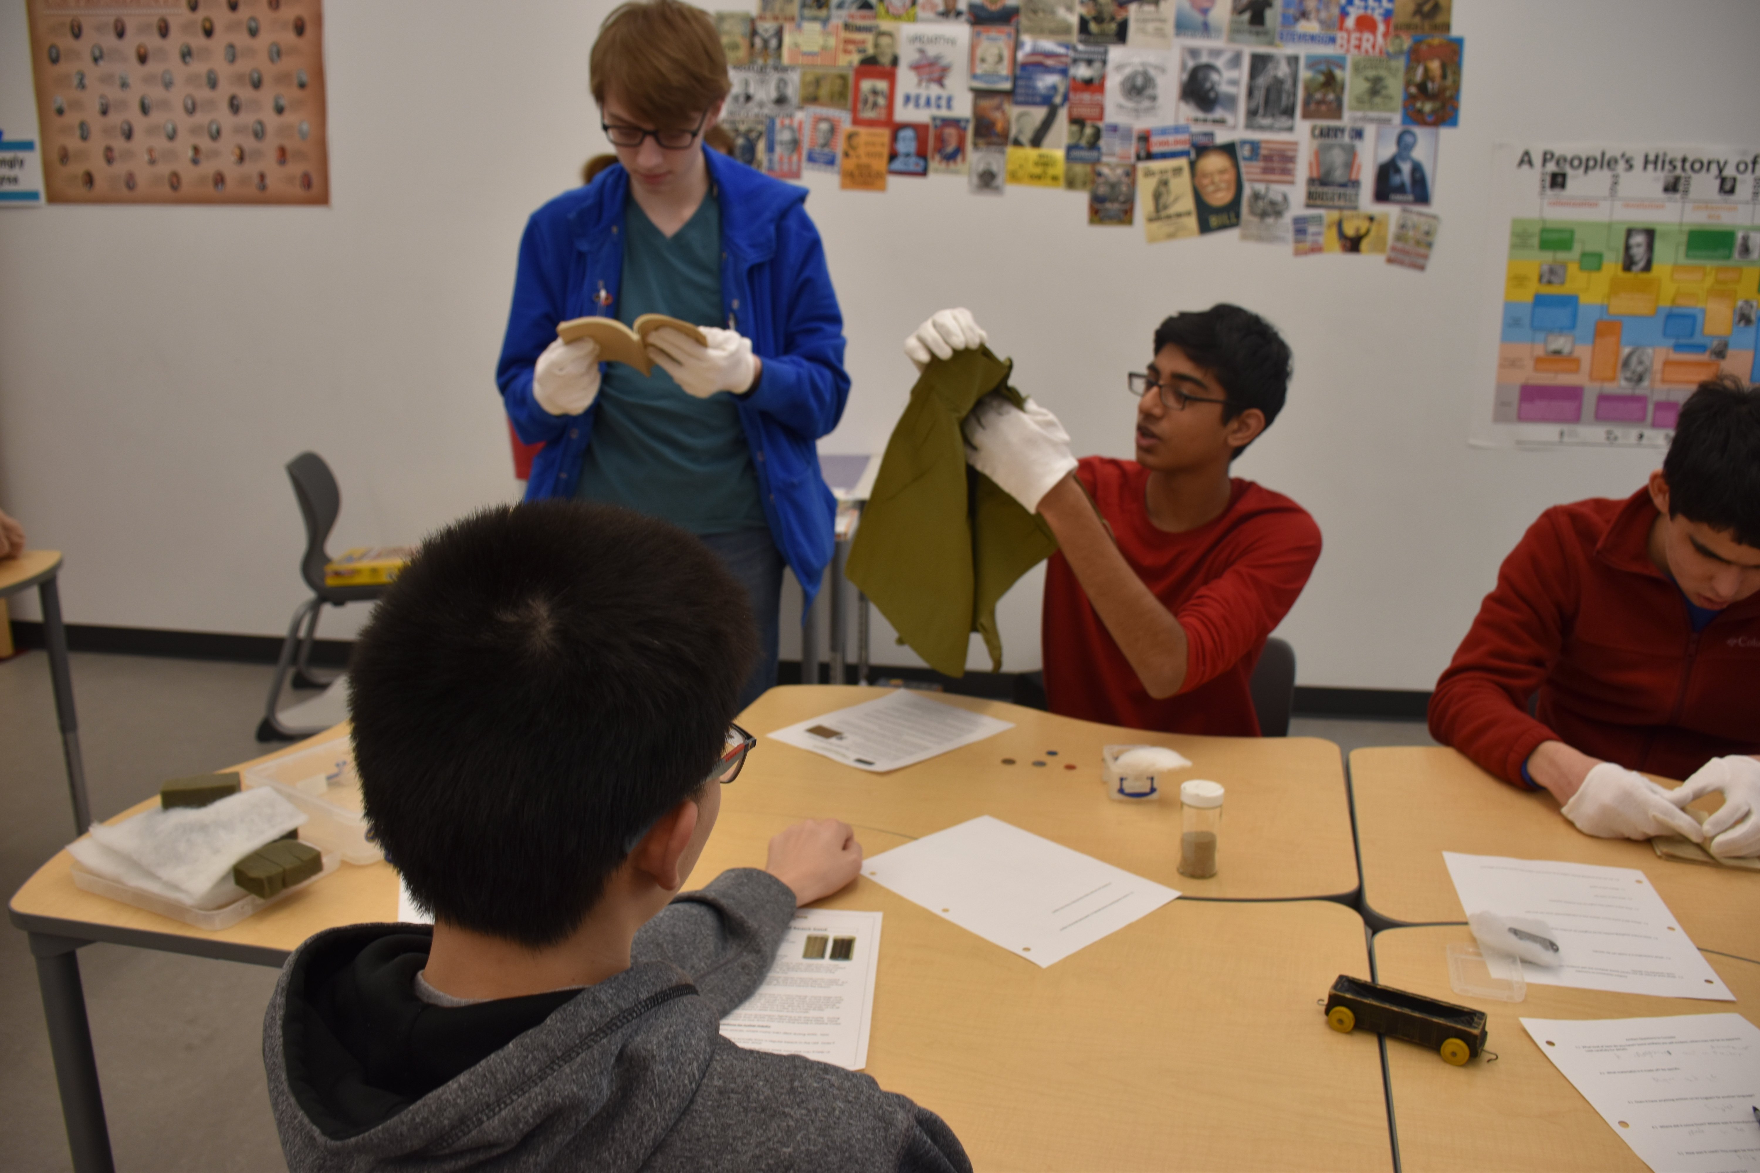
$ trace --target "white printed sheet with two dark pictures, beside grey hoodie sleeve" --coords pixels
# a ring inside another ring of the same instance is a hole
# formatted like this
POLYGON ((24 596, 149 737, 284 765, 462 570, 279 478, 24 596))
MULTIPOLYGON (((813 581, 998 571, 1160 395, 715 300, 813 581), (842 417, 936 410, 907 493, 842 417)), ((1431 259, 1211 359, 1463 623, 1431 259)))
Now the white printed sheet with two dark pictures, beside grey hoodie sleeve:
POLYGON ((880 913, 804 907, 776 948, 764 985, 722 1018, 722 1034, 755 1052, 861 1071, 868 1066, 878 962, 880 913))

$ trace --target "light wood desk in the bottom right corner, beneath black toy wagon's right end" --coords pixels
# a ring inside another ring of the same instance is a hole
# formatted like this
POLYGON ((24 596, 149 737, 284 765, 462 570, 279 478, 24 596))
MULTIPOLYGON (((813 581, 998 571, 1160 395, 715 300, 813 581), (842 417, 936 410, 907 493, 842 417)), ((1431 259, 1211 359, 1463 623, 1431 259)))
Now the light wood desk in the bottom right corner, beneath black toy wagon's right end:
POLYGON ((1375 934, 1378 980, 1491 1015, 1487 1050, 1450 1067, 1434 1052, 1387 1043, 1389 1101, 1404 1173, 1646 1173, 1649 1166, 1596 1115, 1589 1101, 1540 1053, 1521 1018, 1658 1018, 1739 1013, 1760 1024, 1760 964, 1707 953, 1735 1002, 1607 994, 1529 985, 1521 1002, 1456 994, 1447 946, 1471 944, 1464 927, 1389 929, 1375 934))

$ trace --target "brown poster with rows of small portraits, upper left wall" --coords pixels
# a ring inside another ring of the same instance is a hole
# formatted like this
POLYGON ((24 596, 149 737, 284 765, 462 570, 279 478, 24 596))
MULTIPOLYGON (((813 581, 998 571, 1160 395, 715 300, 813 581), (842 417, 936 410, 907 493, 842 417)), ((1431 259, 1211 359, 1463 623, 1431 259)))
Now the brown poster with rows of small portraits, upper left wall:
POLYGON ((329 204, 322 0, 25 0, 51 204, 329 204))

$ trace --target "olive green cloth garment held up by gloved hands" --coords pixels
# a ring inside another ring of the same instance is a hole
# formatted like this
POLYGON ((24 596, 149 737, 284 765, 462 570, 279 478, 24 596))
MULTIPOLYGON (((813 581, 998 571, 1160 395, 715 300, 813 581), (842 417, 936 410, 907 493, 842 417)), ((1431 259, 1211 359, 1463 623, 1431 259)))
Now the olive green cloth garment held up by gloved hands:
POLYGON ((1058 549, 1037 514, 966 466, 961 420, 1008 385, 1012 362, 989 348, 931 359, 892 429, 845 573, 898 630, 901 644, 945 675, 964 675, 972 631, 1001 670, 996 601, 1058 549))

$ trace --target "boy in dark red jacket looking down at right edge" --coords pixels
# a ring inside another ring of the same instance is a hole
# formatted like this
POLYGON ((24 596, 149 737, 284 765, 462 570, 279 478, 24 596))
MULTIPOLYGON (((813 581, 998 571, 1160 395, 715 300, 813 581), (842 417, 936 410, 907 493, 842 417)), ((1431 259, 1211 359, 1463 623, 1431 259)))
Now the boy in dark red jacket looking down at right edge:
POLYGON ((1429 726, 1549 790, 1586 834, 1760 855, 1760 392, 1700 383, 1644 489, 1540 515, 1436 681, 1429 726), (1700 830, 1681 807, 1712 790, 1723 807, 1700 830))

